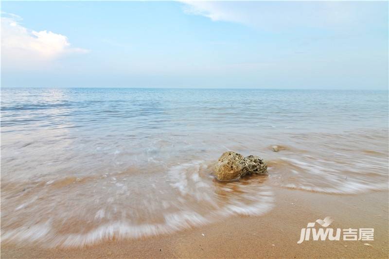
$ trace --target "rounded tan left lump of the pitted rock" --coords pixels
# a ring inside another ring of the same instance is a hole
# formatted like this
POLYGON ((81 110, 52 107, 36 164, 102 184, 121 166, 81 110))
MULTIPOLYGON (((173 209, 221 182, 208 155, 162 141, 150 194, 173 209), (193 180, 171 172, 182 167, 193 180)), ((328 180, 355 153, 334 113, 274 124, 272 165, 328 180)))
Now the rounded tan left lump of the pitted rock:
POLYGON ((215 165, 215 176, 219 181, 230 181, 245 173, 247 160, 243 155, 228 151, 219 157, 215 165))

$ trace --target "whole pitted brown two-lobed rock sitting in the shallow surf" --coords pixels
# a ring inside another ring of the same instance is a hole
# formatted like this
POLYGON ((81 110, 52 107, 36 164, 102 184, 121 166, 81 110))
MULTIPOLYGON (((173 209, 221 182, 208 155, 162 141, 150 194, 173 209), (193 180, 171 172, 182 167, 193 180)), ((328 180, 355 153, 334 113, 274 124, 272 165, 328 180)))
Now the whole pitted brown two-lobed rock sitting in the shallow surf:
POLYGON ((215 165, 214 175, 219 181, 231 181, 246 174, 265 173, 267 164, 259 156, 244 157, 238 153, 228 151, 219 157, 215 165))

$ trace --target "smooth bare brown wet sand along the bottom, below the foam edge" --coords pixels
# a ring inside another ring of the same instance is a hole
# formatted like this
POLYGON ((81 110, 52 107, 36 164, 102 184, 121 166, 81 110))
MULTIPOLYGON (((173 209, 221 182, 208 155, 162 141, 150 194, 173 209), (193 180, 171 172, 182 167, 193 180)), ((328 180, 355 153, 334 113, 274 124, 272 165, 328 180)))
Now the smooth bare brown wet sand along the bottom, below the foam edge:
POLYGON ((357 195, 275 189, 263 216, 230 217, 171 235, 112 240, 83 248, 1 245, 1 258, 388 258, 388 191, 357 195), (374 241, 304 241, 308 222, 331 216, 333 228, 374 228, 374 241), (367 246, 364 243, 369 243, 367 246))

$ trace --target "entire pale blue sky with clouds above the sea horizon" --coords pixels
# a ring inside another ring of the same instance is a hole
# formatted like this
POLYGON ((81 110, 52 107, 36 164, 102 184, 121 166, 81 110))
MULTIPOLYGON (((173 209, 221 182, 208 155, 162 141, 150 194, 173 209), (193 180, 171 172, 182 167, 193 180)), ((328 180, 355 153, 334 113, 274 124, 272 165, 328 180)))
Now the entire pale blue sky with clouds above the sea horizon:
POLYGON ((388 2, 1 2, 2 87, 388 89, 388 2))

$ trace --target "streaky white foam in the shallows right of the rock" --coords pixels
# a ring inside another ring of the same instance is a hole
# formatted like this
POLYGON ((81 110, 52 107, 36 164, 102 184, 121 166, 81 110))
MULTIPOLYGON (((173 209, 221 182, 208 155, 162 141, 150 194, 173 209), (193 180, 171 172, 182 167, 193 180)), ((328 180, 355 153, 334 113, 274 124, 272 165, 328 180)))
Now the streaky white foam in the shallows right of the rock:
POLYGON ((293 173, 293 178, 290 177, 289 172, 284 175, 277 175, 277 170, 269 168, 268 170, 272 175, 271 179, 277 179, 274 183, 286 188, 336 194, 356 194, 388 188, 385 180, 388 175, 376 173, 376 176, 380 177, 382 181, 371 181, 371 176, 367 175, 372 173, 371 170, 374 169, 382 171, 386 166, 385 159, 378 159, 374 165, 371 165, 371 160, 363 158, 355 161, 350 160, 348 163, 337 163, 336 160, 327 161, 311 155, 305 155, 304 157, 308 161, 287 157, 281 158, 281 160, 287 161, 293 166, 290 169, 284 169, 293 173), (298 167, 299 170, 294 169, 294 167, 298 167))

